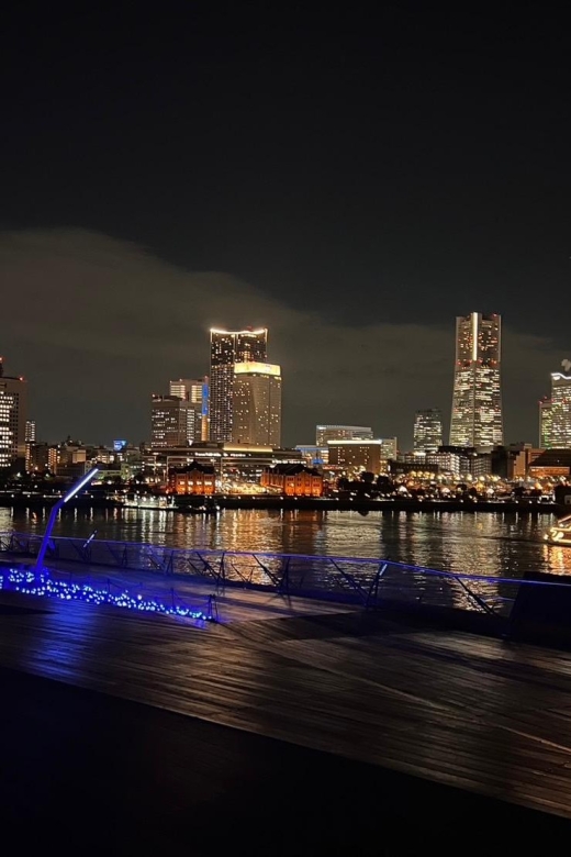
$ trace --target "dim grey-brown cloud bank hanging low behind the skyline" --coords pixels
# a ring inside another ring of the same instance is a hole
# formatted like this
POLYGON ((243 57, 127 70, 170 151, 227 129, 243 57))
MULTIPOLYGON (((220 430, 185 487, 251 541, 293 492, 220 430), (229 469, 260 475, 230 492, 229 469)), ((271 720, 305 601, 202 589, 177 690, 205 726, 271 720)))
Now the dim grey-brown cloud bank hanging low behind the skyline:
MULTIPOLYGON (((269 327, 288 444, 313 442, 317 422, 347 422, 396 435, 405 448, 417 408, 449 412, 454 318, 443 327, 334 324, 227 274, 187 271, 82 230, 0 234, 0 281, 7 370, 27 377, 30 413, 46 439, 146 438, 150 394, 208 371, 211 325, 269 327)), ((537 399, 570 355, 504 321, 506 439, 535 443, 537 399)))

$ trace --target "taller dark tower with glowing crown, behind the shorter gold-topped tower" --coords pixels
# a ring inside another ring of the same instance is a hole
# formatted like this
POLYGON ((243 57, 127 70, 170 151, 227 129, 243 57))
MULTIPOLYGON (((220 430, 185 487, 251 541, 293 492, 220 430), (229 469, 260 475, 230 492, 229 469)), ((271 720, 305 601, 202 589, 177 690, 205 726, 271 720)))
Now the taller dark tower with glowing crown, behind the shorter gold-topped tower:
POLYGON ((210 332, 210 439, 232 439, 234 365, 266 363, 268 330, 210 332))

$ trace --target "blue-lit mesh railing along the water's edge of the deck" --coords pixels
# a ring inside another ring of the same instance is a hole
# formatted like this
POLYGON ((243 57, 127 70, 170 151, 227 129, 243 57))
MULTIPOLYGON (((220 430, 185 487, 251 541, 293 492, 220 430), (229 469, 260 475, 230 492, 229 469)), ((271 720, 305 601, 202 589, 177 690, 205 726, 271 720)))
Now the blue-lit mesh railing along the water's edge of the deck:
MULTIPOLYGON (((0 533, 0 557, 37 557, 42 536, 0 533)), ((260 552, 172 548, 134 542, 55 537, 46 565, 89 566, 145 571, 163 578, 201 579, 215 585, 267 589, 283 596, 362 604, 477 611, 508 616, 523 581, 438 571, 390 559, 368 559, 260 552), (70 565, 68 565, 70 564, 70 565)), ((172 583, 175 580, 172 580, 172 583)))

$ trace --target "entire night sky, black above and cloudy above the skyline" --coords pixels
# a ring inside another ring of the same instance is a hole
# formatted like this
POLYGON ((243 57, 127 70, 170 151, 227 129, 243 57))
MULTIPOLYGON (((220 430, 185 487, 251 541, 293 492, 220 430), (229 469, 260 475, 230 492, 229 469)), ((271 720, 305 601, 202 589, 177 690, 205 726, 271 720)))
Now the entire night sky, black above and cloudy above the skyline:
POLYGON ((564 20, 204 5, 2 21, 0 353, 40 436, 148 438, 211 325, 265 324, 284 443, 348 422, 406 448, 417 408, 448 421, 479 311, 503 316, 506 441, 536 443, 571 358, 564 20))

